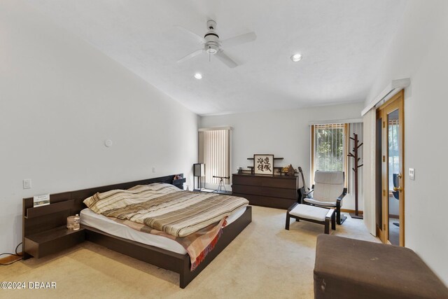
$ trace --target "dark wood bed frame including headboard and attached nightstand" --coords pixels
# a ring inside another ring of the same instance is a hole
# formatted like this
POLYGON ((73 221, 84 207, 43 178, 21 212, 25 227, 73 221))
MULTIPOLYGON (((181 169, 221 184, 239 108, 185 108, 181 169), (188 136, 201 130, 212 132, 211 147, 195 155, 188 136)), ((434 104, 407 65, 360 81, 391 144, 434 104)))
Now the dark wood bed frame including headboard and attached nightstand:
MULTIPOLYGON (((183 176, 181 174, 181 176, 183 176)), ((79 214, 85 208, 83 200, 97 192, 112 189, 128 189, 132 186, 148 183, 171 183, 181 188, 183 179, 173 181, 174 175, 159 178, 118 183, 110 186, 88 188, 84 190, 57 193, 50 195, 50 204, 43 207, 33 207, 33 198, 23 199, 23 259, 42 257, 69 248, 86 239, 118 251, 127 256, 143 260, 146 263, 162 267, 180 274, 180 287, 185 288, 221 251, 232 242, 239 233, 252 221, 252 209, 247 207, 243 215, 223 228, 223 235, 200 265, 190 271, 190 256, 174 253, 155 246, 141 244, 120 237, 109 235, 87 225, 82 225, 80 231, 70 231, 65 228, 66 217, 79 214)))

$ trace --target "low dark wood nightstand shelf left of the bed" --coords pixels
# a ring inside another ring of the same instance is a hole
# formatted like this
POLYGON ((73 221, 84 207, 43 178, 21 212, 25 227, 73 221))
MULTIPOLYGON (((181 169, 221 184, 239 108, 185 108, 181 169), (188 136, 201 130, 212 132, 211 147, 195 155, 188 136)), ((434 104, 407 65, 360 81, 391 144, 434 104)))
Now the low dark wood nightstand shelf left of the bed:
POLYGON ((35 258, 68 249, 85 240, 85 230, 68 230, 65 225, 25 237, 25 252, 35 258))

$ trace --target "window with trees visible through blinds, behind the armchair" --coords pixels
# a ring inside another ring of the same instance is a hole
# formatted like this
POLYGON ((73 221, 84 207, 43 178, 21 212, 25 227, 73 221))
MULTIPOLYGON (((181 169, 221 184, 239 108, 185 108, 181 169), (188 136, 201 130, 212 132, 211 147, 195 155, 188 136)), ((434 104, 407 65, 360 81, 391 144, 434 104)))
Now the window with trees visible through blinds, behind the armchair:
POLYGON ((348 131, 346 123, 311 125, 311 181, 314 181, 316 170, 341 171, 345 178, 348 176, 348 131))

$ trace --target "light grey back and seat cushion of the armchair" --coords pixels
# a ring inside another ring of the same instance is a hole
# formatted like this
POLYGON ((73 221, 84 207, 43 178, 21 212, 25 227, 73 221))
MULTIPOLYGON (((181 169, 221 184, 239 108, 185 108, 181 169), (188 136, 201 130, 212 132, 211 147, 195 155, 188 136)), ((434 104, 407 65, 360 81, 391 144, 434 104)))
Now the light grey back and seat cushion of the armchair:
POLYGON ((344 190, 344 172, 320 172, 314 174, 313 199, 334 202, 344 190))

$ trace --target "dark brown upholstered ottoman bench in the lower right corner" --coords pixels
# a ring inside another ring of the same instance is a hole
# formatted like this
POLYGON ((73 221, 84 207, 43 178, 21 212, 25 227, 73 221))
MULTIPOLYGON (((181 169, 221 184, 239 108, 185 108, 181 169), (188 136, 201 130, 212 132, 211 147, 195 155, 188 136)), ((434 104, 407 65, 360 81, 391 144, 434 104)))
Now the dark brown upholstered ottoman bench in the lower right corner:
POLYGON ((448 288, 411 249, 318 235, 314 298, 448 298, 448 288))

